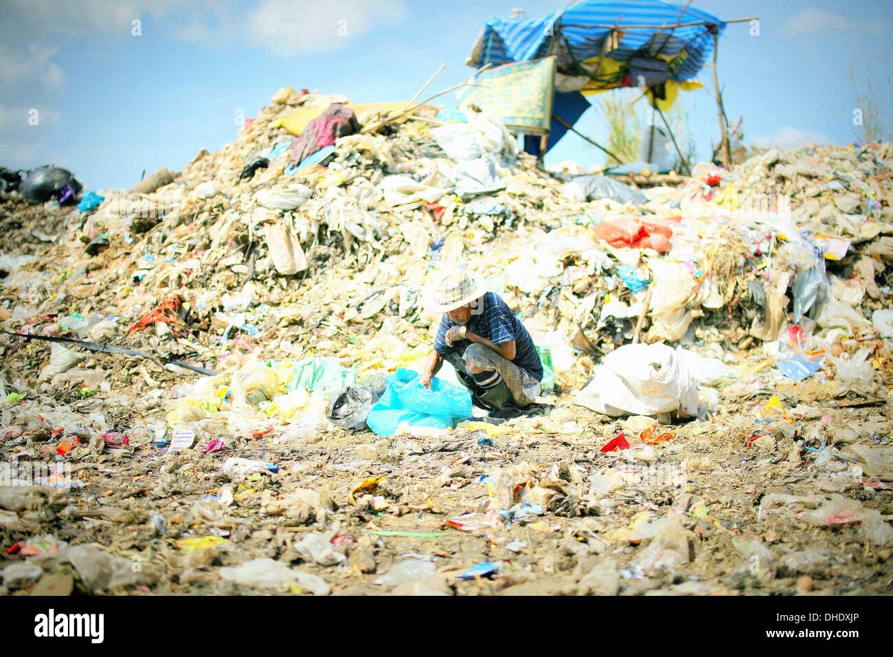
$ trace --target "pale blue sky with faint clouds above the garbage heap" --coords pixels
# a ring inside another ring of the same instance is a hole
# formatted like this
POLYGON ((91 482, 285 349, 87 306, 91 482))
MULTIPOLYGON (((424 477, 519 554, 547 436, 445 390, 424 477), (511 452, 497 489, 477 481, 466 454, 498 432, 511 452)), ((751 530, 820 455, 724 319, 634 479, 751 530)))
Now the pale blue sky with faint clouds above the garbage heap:
MULTIPOLYGON (((188 163, 238 134, 280 87, 404 100, 441 63, 432 85, 471 73, 465 55, 492 15, 530 18, 566 0, 0 0, 0 164, 70 168, 91 188, 129 188, 145 169, 188 163), (140 36, 134 36, 139 21, 140 36), (346 34, 345 34, 346 32, 346 34), (38 110, 38 124, 29 114, 38 110)), ((855 139, 860 85, 871 67, 889 113, 893 3, 854 0, 695 0, 730 25, 720 42, 727 113, 746 142, 797 146, 855 139)), ((709 69, 684 95, 699 154, 718 123, 709 69)), ((441 99, 452 105, 452 96, 441 99)), ((597 97, 591 98, 597 101, 597 97)), ((889 116, 889 114, 888 114, 889 116)), ((603 139, 596 109, 578 129, 603 139)), ((569 134, 547 162, 601 164, 569 134)))

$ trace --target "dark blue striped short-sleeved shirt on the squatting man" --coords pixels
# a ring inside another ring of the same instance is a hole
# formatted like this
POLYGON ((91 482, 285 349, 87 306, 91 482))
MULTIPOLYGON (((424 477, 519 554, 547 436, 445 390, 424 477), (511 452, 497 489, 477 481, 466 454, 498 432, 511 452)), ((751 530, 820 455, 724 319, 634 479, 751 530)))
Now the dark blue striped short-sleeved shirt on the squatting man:
MULTIPOLYGON (((530 372, 537 381, 542 381, 543 365, 539 362, 539 354, 533 344, 533 339, 530 337, 530 333, 527 333, 521 320, 514 316, 512 309, 493 292, 484 295, 483 306, 483 310, 479 314, 472 314, 472 319, 467 324, 468 330, 482 338, 487 338, 493 344, 514 341, 512 362, 530 372)), ((470 340, 459 340, 453 342, 452 347, 447 347, 447 342, 444 341, 447 329, 456 325, 447 313, 440 318, 438 337, 434 340, 434 349, 439 354, 444 355, 451 350, 459 350, 460 353, 463 353, 465 348, 472 343, 470 340)))

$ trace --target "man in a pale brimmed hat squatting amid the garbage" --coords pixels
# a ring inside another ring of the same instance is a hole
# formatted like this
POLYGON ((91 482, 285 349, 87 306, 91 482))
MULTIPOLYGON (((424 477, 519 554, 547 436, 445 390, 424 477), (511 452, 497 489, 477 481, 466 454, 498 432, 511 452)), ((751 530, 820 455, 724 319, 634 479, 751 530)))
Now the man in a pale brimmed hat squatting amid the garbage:
POLYGON ((443 316, 421 370, 422 385, 431 387, 446 358, 475 406, 523 408, 536 399, 543 378, 537 348, 505 301, 487 291, 480 274, 463 269, 441 274, 426 306, 443 316))

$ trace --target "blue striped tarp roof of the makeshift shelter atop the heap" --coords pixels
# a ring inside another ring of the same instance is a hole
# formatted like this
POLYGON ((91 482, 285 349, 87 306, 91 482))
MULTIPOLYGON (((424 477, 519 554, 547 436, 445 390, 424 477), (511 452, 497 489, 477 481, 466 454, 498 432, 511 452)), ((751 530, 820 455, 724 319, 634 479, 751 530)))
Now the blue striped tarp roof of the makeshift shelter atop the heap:
POLYGON ((661 55, 674 57, 684 49, 687 56, 672 72, 671 78, 691 80, 713 52, 714 39, 710 30, 722 34, 725 22, 691 7, 684 13, 682 9, 681 4, 662 0, 590 0, 536 21, 491 18, 484 27, 480 56, 472 57, 469 64, 499 66, 557 55, 558 67, 562 69, 563 64, 571 64, 573 60, 581 62, 598 56, 611 29, 596 26, 616 24, 624 34, 619 49, 611 53, 612 59, 626 60, 636 53, 654 55, 658 51, 661 55), (707 25, 679 27, 671 34, 670 26, 677 22, 707 25), (630 25, 648 27, 626 27, 630 25), (556 35, 559 47, 549 52, 556 35))

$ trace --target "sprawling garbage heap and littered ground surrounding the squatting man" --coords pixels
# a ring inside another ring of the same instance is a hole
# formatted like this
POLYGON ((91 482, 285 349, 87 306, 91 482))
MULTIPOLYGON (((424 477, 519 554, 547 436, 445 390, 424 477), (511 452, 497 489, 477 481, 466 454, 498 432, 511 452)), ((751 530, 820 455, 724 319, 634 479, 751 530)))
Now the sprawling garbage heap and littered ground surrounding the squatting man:
POLYGON ((4 195, 0 592, 880 592, 890 156, 634 190, 283 88, 181 172, 4 195), (419 385, 452 265, 522 316, 537 413, 419 385))

